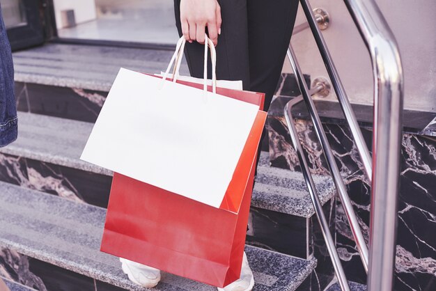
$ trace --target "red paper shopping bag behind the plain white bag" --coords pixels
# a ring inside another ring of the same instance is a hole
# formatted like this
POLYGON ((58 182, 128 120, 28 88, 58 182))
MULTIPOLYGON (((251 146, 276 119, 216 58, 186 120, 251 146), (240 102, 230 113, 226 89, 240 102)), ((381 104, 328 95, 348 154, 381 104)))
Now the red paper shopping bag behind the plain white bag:
MULTIPOLYGON (((263 107, 260 93, 217 93, 263 107)), ((265 119, 259 111, 219 208, 114 173, 101 250, 217 287, 237 280, 265 119)))

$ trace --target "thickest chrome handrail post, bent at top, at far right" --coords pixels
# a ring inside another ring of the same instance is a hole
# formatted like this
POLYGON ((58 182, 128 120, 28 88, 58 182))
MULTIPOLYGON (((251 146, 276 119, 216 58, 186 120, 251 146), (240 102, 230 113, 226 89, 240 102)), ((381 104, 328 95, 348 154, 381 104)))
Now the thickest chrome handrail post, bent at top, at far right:
POLYGON ((344 0, 371 55, 374 75, 373 179, 368 290, 392 290, 404 77, 394 34, 373 0, 344 0))

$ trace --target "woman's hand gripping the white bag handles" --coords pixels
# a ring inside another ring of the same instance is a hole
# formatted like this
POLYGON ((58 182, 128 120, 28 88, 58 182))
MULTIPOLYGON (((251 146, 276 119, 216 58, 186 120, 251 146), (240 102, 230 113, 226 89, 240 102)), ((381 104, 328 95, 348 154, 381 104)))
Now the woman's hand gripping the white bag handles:
POLYGON ((217 0, 180 0, 180 22, 187 41, 203 44, 207 26, 209 38, 217 45, 221 34, 221 8, 217 0))

